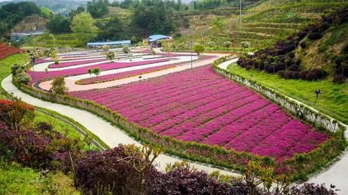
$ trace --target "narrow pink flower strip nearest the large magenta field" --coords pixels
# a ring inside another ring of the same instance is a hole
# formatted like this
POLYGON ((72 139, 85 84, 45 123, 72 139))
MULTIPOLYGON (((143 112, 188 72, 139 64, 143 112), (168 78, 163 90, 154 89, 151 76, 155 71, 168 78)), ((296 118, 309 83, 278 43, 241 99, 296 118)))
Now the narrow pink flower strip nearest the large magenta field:
POLYGON ((164 69, 169 69, 172 67, 175 67, 176 65, 163 65, 159 67, 150 67, 150 68, 145 68, 145 69, 138 69, 138 70, 133 70, 133 71, 125 71, 125 72, 120 72, 116 74, 108 74, 104 76, 94 76, 92 78, 84 78, 81 80, 77 80, 77 83, 80 85, 87 85, 87 84, 92 84, 92 83, 102 83, 106 82, 109 80, 117 80, 120 78, 127 78, 130 76, 136 76, 140 74, 147 74, 153 71, 159 71, 159 70, 164 70, 164 69))

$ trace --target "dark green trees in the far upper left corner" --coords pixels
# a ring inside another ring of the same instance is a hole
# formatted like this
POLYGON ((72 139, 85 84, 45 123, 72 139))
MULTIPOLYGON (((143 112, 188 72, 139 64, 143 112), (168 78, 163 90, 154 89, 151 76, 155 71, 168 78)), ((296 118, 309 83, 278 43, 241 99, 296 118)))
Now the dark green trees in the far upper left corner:
POLYGON ((0 35, 9 33, 16 24, 29 15, 49 17, 47 9, 32 2, 8 3, 0 8, 0 35))

